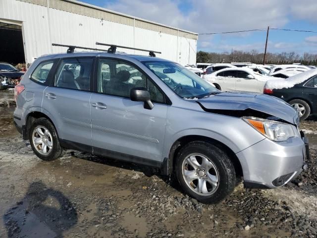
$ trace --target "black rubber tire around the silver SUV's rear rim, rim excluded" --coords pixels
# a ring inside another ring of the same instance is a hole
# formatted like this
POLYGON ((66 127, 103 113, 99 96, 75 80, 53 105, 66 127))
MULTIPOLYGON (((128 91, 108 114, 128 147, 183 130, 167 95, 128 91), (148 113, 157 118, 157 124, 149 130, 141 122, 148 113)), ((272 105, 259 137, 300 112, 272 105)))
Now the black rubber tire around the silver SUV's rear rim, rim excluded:
POLYGON ((29 132, 29 140, 30 140, 32 150, 33 150, 34 154, 36 154, 36 156, 39 157, 41 160, 53 161, 53 160, 56 160, 57 158, 59 158, 63 155, 64 150, 60 146, 57 132, 55 130, 54 125, 52 124, 52 122, 50 120, 48 120, 46 118, 39 118, 39 119, 34 120, 32 125, 30 126, 30 130, 28 132, 29 132), (52 135, 53 146, 52 146, 51 151, 47 155, 40 154, 37 151, 37 149, 35 148, 35 145, 33 143, 32 134, 33 134, 33 130, 37 126, 44 126, 45 128, 47 128, 49 130, 49 132, 52 135))

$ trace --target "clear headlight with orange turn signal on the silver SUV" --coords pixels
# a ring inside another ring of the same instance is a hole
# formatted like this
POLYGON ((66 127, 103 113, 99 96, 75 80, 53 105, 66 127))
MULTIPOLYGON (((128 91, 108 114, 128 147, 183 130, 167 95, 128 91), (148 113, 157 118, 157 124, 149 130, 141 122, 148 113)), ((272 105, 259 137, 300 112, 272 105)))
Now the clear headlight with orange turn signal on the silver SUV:
POLYGON ((285 141, 290 137, 300 137, 298 129, 291 124, 260 118, 243 118, 243 120, 273 141, 285 141))

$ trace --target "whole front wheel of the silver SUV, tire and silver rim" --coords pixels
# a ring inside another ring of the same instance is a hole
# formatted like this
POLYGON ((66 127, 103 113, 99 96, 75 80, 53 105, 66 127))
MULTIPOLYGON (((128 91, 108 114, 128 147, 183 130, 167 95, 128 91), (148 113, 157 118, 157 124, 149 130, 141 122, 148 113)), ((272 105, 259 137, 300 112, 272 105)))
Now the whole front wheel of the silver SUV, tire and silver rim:
POLYGON ((194 141, 178 153, 176 175, 186 193, 203 203, 216 203, 229 195, 236 174, 228 155, 213 144, 194 141))

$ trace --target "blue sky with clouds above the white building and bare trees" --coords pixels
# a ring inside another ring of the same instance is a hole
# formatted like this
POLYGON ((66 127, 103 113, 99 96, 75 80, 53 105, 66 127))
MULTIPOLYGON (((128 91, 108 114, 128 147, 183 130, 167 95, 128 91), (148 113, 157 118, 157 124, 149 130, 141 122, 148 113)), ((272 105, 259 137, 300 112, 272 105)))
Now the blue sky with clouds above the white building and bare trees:
MULTIPOLYGON (((195 33, 284 28, 317 31, 317 0, 81 0, 195 33)), ((199 35, 197 50, 264 52, 266 31, 199 35)), ((270 30, 268 52, 317 54, 317 33, 270 30)))

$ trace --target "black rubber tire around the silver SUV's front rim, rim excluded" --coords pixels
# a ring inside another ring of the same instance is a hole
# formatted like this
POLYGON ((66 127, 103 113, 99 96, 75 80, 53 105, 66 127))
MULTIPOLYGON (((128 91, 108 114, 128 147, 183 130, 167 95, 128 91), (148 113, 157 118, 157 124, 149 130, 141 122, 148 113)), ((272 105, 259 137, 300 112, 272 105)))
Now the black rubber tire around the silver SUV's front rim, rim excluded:
POLYGON ((236 185, 236 173, 227 153, 215 145, 203 141, 194 141, 180 149, 176 158, 176 177, 191 197, 203 203, 217 203, 228 196, 236 185), (216 167, 219 175, 218 187, 211 195, 199 195, 187 185, 183 178, 183 161, 190 155, 198 153, 208 158, 216 167))

